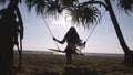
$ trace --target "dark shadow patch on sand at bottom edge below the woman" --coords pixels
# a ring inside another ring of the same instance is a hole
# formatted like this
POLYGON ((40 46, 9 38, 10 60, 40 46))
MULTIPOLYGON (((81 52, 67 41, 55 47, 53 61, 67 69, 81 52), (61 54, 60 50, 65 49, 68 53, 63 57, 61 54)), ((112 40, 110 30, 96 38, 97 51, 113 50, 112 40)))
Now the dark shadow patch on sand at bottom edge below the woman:
POLYGON ((65 67, 63 75, 98 75, 96 71, 89 71, 86 68, 65 67))

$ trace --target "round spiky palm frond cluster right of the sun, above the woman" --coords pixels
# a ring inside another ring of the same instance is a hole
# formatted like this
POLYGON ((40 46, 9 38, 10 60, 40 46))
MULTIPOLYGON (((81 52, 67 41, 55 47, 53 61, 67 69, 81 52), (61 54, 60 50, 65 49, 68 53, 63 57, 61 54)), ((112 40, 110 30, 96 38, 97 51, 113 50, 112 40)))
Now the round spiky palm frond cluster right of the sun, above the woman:
POLYGON ((78 6, 69 9, 72 22, 82 24, 84 28, 96 24, 100 21, 101 12, 93 6, 78 6))

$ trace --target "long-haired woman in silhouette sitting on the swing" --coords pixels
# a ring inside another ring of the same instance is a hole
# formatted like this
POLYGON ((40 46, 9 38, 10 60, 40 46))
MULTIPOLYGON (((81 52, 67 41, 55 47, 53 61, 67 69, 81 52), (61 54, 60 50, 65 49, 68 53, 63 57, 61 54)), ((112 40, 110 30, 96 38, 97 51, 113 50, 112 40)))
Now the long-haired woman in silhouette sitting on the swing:
MULTIPOLYGON (((64 39, 62 41, 57 40, 55 38, 53 38, 54 41, 63 44, 65 41, 68 43, 64 52, 66 53, 66 64, 71 64, 72 63, 72 54, 78 54, 76 51, 79 49, 76 49, 76 46, 82 46, 85 45, 84 43, 81 43, 82 40, 80 40, 80 36, 75 30, 75 28, 71 26, 70 30, 68 31, 68 33, 64 35, 64 39)), ((79 50, 80 51, 80 50, 79 50)))

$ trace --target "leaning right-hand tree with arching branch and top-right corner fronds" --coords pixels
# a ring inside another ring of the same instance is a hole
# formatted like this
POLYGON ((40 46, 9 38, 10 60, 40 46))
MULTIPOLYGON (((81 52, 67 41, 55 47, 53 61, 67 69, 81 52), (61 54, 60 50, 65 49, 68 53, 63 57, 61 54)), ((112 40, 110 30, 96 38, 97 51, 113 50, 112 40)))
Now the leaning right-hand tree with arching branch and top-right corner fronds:
MULTIPOLYGON (((103 1, 92 0, 92 1, 86 1, 83 4, 95 4, 95 3, 102 4, 109 11, 111 20, 113 22, 113 26, 114 26, 116 35, 119 38, 120 44, 121 44, 121 46, 122 46, 122 49, 124 51, 123 64, 125 64, 127 66, 133 66, 133 51, 130 50, 130 47, 126 45, 126 43, 124 41, 124 36, 123 36, 122 32, 121 32, 117 19, 115 17, 115 13, 113 11, 113 8, 112 8, 112 4, 111 4, 110 0, 104 0, 104 2, 103 1)), ((133 1, 132 0, 120 0, 119 1, 119 7, 121 9, 124 9, 126 13, 132 12, 133 1)), ((86 22, 86 24, 88 24, 88 22, 86 22)))

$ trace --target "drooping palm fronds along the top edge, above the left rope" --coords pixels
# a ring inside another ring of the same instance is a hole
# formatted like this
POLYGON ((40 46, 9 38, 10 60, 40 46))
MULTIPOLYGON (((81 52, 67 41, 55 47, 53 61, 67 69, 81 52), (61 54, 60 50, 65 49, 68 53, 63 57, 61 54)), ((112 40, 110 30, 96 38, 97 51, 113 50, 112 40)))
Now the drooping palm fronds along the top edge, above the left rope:
POLYGON ((25 4, 29 11, 34 7, 37 14, 52 15, 62 12, 59 0, 25 0, 25 4))

